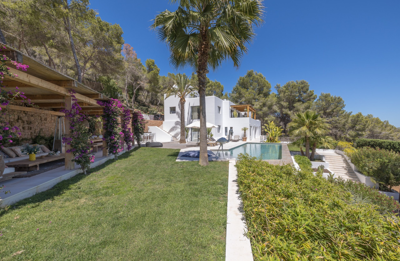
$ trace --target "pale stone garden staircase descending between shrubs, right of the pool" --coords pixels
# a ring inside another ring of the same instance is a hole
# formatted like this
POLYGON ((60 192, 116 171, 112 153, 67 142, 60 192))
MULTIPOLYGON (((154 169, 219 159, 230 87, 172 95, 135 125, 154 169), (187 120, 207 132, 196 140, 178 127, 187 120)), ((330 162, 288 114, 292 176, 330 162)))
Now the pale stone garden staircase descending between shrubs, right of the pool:
POLYGON ((324 153, 323 155, 325 155, 325 161, 329 163, 329 169, 335 173, 335 177, 359 181, 356 174, 342 155, 337 153, 324 153))

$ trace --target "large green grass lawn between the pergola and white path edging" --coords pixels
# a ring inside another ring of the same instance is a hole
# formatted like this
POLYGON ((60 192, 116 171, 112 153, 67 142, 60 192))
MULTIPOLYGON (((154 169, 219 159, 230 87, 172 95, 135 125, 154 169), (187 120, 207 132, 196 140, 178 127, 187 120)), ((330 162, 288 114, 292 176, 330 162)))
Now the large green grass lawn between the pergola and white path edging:
POLYGON ((0 211, 1 260, 225 260, 228 163, 140 148, 0 211))

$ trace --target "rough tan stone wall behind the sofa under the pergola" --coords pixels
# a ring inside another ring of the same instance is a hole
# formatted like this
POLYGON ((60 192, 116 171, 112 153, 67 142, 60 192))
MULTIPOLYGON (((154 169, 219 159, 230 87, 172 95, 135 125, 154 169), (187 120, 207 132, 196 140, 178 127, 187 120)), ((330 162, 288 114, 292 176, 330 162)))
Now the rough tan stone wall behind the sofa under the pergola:
POLYGON ((40 130, 44 136, 54 136, 56 119, 57 116, 46 113, 20 110, 7 110, 6 112, 6 121, 10 122, 11 126, 20 128, 22 139, 32 139, 38 135, 40 130))

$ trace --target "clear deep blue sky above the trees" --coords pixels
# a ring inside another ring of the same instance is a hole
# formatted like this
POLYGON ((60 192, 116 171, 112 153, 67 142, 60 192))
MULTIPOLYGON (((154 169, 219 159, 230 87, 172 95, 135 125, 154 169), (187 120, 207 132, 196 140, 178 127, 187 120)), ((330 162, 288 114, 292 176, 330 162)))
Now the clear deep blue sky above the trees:
MULTIPOLYGON (((160 74, 176 72, 169 52, 152 30, 151 20, 168 0, 92 0, 90 7, 120 24, 124 40, 144 62, 154 59, 160 74)), ((341 96, 346 110, 374 114, 400 127, 400 1, 266 0, 265 23, 240 68, 226 62, 208 77, 230 92, 247 70, 271 83, 306 80, 316 94, 341 96)), ((180 72, 191 74, 190 68, 180 72)), ((274 89, 273 89, 274 90, 274 89)))

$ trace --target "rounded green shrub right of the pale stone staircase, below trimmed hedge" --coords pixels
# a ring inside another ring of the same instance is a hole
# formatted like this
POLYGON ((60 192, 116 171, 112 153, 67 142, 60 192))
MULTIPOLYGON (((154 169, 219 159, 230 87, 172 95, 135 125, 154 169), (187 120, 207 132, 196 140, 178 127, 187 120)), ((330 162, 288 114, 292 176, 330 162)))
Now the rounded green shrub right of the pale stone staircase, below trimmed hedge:
POLYGON ((358 171, 373 177, 386 187, 389 185, 390 173, 396 179, 400 177, 400 154, 394 151, 364 147, 357 149, 349 157, 358 171))

